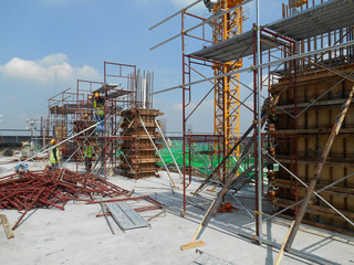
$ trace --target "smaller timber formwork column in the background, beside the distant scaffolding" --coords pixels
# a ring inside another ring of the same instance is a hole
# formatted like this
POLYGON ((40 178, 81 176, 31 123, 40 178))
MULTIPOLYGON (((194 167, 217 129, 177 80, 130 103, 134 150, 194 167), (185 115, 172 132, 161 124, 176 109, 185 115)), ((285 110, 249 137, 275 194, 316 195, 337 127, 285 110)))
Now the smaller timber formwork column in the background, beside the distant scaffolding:
POLYGON ((121 145, 121 166, 123 174, 129 178, 157 177, 159 161, 155 148, 149 139, 156 142, 159 138, 155 118, 163 115, 157 109, 127 109, 122 112, 123 142, 121 145), (144 125, 140 123, 140 118, 144 125), (146 127, 149 136, 145 132, 146 127))

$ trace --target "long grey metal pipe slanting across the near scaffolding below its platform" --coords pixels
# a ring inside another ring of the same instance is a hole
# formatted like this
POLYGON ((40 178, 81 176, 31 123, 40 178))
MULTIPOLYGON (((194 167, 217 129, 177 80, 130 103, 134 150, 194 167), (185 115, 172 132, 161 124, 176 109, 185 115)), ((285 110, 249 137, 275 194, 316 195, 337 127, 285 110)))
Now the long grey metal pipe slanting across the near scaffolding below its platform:
MULTIPOLYGON (((315 55, 315 54, 319 54, 319 53, 323 53, 323 52, 326 52, 326 51, 332 51, 332 50, 335 50, 335 49, 346 47, 346 46, 351 46, 351 45, 354 45, 354 41, 350 41, 347 43, 341 43, 341 44, 337 44, 337 45, 332 45, 332 46, 329 46, 329 47, 315 50, 315 51, 308 52, 308 53, 301 53, 301 54, 292 55, 292 56, 289 56, 289 57, 282 59, 282 60, 278 60, 278 61, 274 61, 274 62, 263 63, 263 64, 254 65, 254 66, 251 66, 251 67, 232 71, 232 72, 229 72, 229 73, 226 73, 226 74, 216 75, 216 76, 212 76, 212 77, 208 77, 208 78, 190 82, 190 83, 187 83, 187 84, 180 84, 178 86, 173 86, 170 88, 166 88, 166 89, 163 89, 163 91, 150 93, 149 95, 156 95, 156 94, 160 94, 160 93, 165 93, 165 92, 169 92, 169 91, 175 91, 175 89, 178 89, 178 88, 187 87, 187 86, 190 86, 190 85, 196 85, 196 84, 204 83, 204 82, 207 82, 207 81, 214 81, 214 80, 218 80, 218 78, 221 78, 221 77, 231 76, 231 75, 235 75, 235 74, 240 74, 240 73, 244 73, 244 72, 254 71, 254 70, 258 70, 258 68, 264 68, 264 67, 268 67, 268 66, 285 63, 285 62, 289 62, 289 61, 292 61, 292 60, 308 57, 308 56, 315 55)), ((345 75, 345 76, 346 76, 347 80, 354 82, 353 77, 351 77, 348 75, 345 75)))

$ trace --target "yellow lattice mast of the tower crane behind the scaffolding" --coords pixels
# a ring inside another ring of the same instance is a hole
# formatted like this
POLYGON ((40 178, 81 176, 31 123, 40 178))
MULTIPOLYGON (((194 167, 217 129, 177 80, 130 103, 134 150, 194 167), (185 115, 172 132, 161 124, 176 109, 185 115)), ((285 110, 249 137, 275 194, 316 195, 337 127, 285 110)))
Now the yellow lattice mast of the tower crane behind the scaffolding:
MULTIPOLYGON (((214 13, 228 10, 244 0, 221 0, 214 8, 214 13)), ((218 19, 214 25, 214 42, 218 43, 242 33, 242 7, 218 19)), ((222 65, 214 64, 215 75, 236 71, 242 66, 242 60, 227 62, 222 65)), ((239 75, 215 80, 215 129, 216 135, 225 137, 223 147, 227 153, 240 136, 240 85, 239 75)), ((219 150, 220 151, 220 150, 219 150)), ((239 150, 233 153, 239 155, 239 150)))

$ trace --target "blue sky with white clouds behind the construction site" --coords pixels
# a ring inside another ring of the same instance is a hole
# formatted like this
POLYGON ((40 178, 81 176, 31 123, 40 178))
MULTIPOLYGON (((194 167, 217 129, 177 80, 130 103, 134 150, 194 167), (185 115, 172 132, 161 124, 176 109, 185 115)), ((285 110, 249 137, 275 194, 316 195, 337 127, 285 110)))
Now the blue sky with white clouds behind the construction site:
MULTIPOLYGON (((48 98, 67 87, 75 91, 77 78, 102 81, 104 61, 154 71, 155 91, 180 84, 180 40, 149 51, 179 32, 179 17, 154 31, 148 28, 191 2, 194 0, 2 1, 0 128, 25 128, 27 118, 46 115, 48 98)), ((261 0, 262 24, 280 18, 281 2, 261 0)), ((247 9, 249 20, 244 31, 254 22, 254 1, 247 9)), ((192 12, 210 15, 202 3, 192 12)), ((202 43, 197 42, 188 49, 192 52, 201 46, 202 43)), ((244 64, 249 62, 246 60, 244 64)), ((205 74, 210 76, 210 73, 205 74)), ((241 80, 246 84, 252 82, 250 74, 241 80)), ((209 84, 195 88, 196 104, 209 88, 209 84)), ((246 92, 241 92, 241 98, 246 96, 246 92)), ((156 95, 154 100, 155 108, 165 113, 167 130, 180 131, 180 91, 156 95)), ((249 120, 249 117, 250 114, 242 113, 241 119, 249 120)), ((212 97, 201 106, 191 124, 195 132, 212 131, 212 97)), ((241 130, 249 126, 241 124, 241 130)))

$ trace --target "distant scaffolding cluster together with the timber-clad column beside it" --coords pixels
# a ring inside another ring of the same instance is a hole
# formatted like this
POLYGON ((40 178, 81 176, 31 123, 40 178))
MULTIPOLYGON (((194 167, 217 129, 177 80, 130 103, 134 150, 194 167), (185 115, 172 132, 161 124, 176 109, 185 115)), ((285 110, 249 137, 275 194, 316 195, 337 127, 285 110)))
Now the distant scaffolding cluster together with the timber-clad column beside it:
POLYGON ((77 80, 76 92, 69 88, 49 99, 49 115, 42 118, 43 144, 49 145, 51 138, 63 142, 62 157, 74 159, 76 170, 86 163, 86 170, 105 178, 117 172, 135 179, 155 177, 159 167, 152 141, 159 137, 155 118, 162 113, 153 109, 153 72, 104 62, 103 82, 77 80), (96 94, 103 102, 101 116, 94 107, 96 94), (140 118, 152 141, 142 130, 140 118), (91 169, 85 146, 93 148, 91 169))

